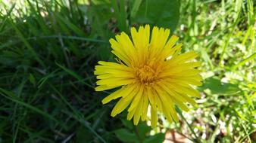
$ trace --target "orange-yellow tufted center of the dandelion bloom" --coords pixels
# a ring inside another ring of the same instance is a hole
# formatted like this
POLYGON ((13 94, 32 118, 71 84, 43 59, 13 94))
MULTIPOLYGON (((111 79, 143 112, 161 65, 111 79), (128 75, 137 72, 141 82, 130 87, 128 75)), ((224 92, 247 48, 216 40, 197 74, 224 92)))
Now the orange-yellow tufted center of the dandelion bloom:
POLYGON ((143 84, 150 84, 157 78, 157 72, 148 65, 136 68, 136 78, 143 84))

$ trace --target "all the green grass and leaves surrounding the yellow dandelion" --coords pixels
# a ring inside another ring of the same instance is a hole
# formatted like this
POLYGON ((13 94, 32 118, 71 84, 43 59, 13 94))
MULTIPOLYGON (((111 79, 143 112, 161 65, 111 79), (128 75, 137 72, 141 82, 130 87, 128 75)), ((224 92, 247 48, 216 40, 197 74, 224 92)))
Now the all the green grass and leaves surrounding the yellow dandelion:
POLYGON ((0 142, 256 141, 254 0, 0 0, 0 142), (163 26, 199 53, 201 99, 180 123, 133 126, 95 92, 108 39, 163 26), (179 137, 180 138, 180 137, 179 137), (168 140, 169 139, 169 140, 168 140), (178 138, 176 138, 178 139, 178 138))

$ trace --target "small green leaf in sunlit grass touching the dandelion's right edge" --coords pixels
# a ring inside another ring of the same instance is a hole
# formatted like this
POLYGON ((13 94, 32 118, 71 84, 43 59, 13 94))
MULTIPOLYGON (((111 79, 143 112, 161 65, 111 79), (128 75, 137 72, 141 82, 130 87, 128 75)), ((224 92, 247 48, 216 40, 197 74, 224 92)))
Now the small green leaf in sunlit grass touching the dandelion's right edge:
POLYGON ((211 77, 204 80, 204 85, 199 90, 211 90, 212 94, 233 94, 239 92, 236 84, 223 83, 217 77, 211 77))

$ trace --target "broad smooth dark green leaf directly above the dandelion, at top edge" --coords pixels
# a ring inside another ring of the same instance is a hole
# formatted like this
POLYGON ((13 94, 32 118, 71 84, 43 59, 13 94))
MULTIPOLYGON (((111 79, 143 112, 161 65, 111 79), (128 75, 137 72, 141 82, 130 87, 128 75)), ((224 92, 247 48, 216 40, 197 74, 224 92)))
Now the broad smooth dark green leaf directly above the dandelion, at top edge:
POLYGON ((180 18, 180 1, 165 0, 145 0, 141 3, 132 23, 145 24, 151 26, 161 26, 170 29, 176 28, 180 18))

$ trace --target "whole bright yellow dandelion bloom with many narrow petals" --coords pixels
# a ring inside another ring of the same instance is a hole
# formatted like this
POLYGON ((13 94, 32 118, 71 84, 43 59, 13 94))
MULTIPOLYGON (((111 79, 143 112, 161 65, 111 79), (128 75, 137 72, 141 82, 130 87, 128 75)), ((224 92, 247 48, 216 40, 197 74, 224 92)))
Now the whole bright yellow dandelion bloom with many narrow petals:
POLYGON ((96 91, 110 90, 117 87, 111 95, 102 100, 103 104, 120 98, 111 116, 114 117, 128 108, 127 120, 133 118, 137 125, 139 119, 145 120, 150 105, 151 126, 158 123, 158 111, 164 114, 169 122, 179 118, 175 105, 188 111, 186 102, 195 105, 191 98, 200 97, 191 86, 201 85, 199 70, 195 69, 200 62, 195 62, 197 54, 193 51, 180 53, 182 44, 176 44, 178 37, 170 35, 170 29, 140 26, 139 30, 131 29, 132 40, 126 33, 110 39, 112 53, 117 62, 99 61, 95 66, 97 75, 96 91), (151 38, 150 38, 151 37, 151 38))

